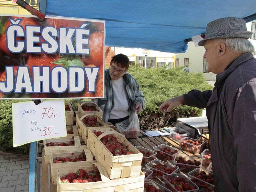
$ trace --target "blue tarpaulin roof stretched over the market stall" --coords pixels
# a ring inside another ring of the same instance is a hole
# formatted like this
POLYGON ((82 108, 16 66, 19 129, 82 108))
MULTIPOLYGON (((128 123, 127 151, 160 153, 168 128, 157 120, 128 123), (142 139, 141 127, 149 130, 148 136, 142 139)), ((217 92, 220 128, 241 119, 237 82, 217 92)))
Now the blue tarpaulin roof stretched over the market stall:
POLYGON ((256 19, 255 0, 47 0, 46 15, 106 20, 106 45, 186 52, 186 39, 223 17, 256 19))

